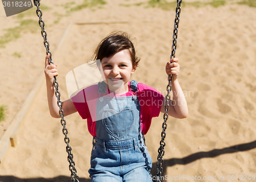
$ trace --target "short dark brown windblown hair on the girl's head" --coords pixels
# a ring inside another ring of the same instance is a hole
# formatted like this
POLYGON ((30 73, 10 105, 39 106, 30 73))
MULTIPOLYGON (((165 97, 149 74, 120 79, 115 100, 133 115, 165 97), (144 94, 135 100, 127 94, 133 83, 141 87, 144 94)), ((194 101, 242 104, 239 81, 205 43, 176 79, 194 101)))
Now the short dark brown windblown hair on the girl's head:
POLYGON ((134 45, 130 40, 129 34, 122 31, 115 31, 106 36, 95 49, 92 59, 100 60, 101 62, 103 58, 109 58, 124 49, 129 50, 133 67, 136 69, 140 58, 136 56, 134 45))

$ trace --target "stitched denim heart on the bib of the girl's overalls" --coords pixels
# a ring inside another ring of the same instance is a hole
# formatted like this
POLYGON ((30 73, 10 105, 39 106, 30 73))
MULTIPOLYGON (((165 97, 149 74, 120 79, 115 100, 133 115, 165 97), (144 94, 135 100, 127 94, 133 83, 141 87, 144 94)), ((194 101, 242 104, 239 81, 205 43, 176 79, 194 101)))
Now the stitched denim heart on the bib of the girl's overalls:
POLYGON ((126 108, 120 112, 116 112, 113 109, 106 109, 102 113, 102 123, 110 135, 117 139, 121 139, 133 126, 133 110, 126 108))

